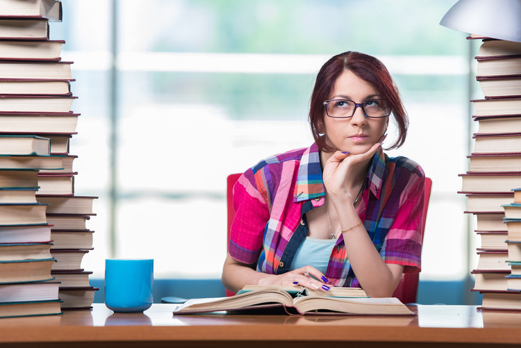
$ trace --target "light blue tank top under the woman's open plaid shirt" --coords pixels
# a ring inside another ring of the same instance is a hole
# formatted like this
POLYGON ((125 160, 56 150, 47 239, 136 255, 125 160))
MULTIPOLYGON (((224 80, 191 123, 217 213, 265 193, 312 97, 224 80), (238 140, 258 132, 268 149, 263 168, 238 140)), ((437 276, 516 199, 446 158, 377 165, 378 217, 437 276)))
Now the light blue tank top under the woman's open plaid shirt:
POLYGON ((335 243, 336 239, 306 237, 293 257, 290 271, 310 265, 323 274, 326 274, 331 251, 333 251, 335 243))

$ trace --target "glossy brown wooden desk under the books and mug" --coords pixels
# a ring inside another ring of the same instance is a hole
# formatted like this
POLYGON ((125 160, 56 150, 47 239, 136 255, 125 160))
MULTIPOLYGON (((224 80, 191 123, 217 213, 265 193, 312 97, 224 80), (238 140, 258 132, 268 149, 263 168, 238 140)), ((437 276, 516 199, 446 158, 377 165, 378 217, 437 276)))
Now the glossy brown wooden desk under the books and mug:
POLYGON ((415 306, 416 317, 142 314, 104 304, 63 315, 0 319, 0 347, 514 347, 521 313, 475 306, 415 306))

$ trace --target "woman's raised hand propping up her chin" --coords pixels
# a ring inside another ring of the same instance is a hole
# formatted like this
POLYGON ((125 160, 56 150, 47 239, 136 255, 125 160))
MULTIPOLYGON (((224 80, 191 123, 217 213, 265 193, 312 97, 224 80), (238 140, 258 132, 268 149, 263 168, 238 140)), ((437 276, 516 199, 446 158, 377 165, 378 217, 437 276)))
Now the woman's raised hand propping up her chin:
POLYGON ((352 155, 349 154, 349 152, 343 153, 342 151, 336 151, 329 157, 324 165, 322 179, 330 196, 350 195, 347 183, 353 167, 358 163, 370 160, 386 136, 387 135, 382 135, 378 142, 363 154, 352 155))

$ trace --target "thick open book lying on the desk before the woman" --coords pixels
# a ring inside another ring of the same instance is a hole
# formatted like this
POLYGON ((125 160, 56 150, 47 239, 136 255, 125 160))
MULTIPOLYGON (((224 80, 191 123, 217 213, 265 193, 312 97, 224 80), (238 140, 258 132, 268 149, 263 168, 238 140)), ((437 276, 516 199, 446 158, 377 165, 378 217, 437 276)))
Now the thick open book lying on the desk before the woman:
POLYGON ((289 315, 414 315, 399 299, 370 298, 360 288, 331 288, 324 292, 299 286, 247 285, 237 295, 190 299, 176 306, 176 314, 283 313, 289 315))

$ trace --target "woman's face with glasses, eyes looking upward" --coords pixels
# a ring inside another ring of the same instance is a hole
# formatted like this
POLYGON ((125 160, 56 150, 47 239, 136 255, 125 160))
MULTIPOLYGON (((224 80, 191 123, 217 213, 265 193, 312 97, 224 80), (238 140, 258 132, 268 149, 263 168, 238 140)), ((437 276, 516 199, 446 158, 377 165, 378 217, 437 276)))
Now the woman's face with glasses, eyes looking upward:
MULTIPOLYGON (((349 99, 363 103, 368 99, 381 98, 379 92, 370 83, 363 81, 349 70, 338 76, 333 94, 329 99, 349 99)), ((324 134, 326 143, 333 149, 363 154, 385 133, 389 117, 365 117, 362 108, 356 108, 353 117, 329 117, 324 108, 324 134)))

